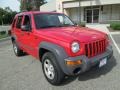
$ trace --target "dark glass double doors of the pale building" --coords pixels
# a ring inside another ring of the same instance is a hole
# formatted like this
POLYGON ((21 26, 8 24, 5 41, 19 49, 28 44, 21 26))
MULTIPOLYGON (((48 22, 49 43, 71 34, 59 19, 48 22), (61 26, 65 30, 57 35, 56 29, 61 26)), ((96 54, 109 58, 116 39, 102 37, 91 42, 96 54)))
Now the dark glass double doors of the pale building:
POLYGON ((86 21, 87 23, 99 22, 99 9, 86 9, 86 21))

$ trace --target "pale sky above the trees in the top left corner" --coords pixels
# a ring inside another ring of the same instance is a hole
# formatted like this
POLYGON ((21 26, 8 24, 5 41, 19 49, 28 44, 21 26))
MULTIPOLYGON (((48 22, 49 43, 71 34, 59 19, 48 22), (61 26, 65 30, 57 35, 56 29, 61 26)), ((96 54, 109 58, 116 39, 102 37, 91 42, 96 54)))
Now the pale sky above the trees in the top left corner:
POLYGON ((0 7, 10 7, 13 11, 20 11, 20 3, 18 0, 0 0, 0 7))

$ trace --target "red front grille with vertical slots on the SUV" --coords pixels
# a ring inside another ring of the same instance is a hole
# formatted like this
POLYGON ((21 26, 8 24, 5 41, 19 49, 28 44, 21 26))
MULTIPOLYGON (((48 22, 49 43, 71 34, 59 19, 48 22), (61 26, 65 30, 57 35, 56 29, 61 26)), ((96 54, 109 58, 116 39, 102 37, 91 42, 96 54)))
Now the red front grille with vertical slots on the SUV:
POLYGON ((106 41, 100 40, 92 43, 85 44, 85 55, 87 57, 93 57, 106 50, 106 41))

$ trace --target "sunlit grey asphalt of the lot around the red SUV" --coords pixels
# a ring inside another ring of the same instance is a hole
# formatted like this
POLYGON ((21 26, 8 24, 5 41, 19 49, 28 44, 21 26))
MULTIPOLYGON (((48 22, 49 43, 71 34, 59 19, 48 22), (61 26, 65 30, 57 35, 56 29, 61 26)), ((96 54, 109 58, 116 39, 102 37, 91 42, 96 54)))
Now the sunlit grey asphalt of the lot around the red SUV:
POLYGON ((10 41, 0 42, 0 90, 119 90, 120 55, 114 45, 113 50, 114 56, 105 67, 93 67, 78 77, 66 78, 61 86, 52 86, 39 60, 30 55, 16 57, 10 41))

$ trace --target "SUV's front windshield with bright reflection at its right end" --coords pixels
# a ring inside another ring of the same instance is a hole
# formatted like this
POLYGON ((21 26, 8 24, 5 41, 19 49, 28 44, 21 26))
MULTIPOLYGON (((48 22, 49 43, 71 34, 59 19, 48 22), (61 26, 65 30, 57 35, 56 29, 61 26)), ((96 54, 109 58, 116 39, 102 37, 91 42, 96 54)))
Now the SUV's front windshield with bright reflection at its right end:
POLYGON ((74 23, 64 14, 35 14, 34 19, 37 29, 74 25, 74 23))

